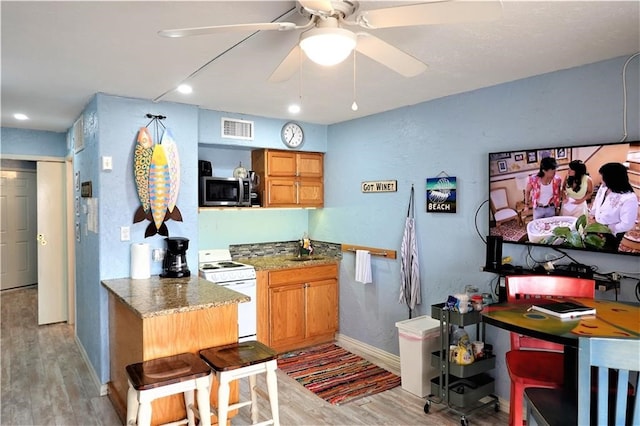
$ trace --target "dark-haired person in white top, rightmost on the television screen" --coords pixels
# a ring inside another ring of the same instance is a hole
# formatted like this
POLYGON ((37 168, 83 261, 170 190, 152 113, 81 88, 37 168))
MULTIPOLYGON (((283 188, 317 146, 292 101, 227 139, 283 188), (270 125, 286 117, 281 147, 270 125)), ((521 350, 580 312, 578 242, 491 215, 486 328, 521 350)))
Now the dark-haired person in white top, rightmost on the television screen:
POLYGON ((600 167, 602 185, 591 205, 591 216, 607 225, 613 236, 608 237, 608 249, 617 251, 625 232, 633 229, 638 217, 638 197, 629 183, 627 168, 622 163, 607 163, 600 167))

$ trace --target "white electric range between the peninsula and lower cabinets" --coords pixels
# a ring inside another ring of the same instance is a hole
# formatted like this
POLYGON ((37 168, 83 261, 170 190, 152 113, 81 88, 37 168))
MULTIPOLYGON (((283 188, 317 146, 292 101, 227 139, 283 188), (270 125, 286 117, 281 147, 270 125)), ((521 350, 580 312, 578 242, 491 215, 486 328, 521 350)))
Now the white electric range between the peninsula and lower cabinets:
POLYGON ((251 298, 238 305, 238 341, 255 340, 257 329, 256 270, 251 265, 231 260, 227 249, 198 252, 200 277, 251 298))

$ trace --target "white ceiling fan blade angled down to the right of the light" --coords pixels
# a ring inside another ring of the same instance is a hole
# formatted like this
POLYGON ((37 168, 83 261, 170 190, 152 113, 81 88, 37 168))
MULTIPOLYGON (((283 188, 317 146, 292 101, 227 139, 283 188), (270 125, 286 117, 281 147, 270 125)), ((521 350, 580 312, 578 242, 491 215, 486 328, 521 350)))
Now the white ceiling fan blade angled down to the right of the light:
POLYGON ((358 33, 356 50, 405 77, 414 77, 427 69, 424 62, 368 33, 358 33))

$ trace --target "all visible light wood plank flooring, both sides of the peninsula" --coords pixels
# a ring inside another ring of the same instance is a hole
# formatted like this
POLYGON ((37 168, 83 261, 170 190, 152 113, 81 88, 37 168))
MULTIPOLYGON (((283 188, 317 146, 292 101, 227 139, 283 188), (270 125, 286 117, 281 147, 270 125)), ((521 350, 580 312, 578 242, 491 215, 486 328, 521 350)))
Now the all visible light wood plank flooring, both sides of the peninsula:
MULTIPOLYGON (((37 325, 37 289, 0 294, 2 425, 119 425, 109 399, 99 396, 67 324, 37 325)), ((258 386, 266 391, 263 377, 258 386)), ((240 386, 247 397, 247 380, 240 386)), ((459 425, 460 416, 443 405, 423 411, 425 400, 400 386, 334 406, 278 370, 280 422, 283 425, 459 425)), ((260 401, 261 420, 270 413, 260 401)), ((505 413, 492 407, 473 412, 470 425, 506 424, 505 413)), ((240 409, 232 425, 251 424, 249 408, 240 409)))

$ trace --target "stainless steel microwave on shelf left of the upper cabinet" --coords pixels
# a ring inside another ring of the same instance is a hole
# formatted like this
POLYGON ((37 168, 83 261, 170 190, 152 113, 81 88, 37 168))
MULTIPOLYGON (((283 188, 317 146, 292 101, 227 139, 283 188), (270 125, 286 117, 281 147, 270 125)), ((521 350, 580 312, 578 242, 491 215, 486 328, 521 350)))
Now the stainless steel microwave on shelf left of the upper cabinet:
POLYGON ((251 181, 202 176, 198 188, 201 207, 251 207, 251 181))

